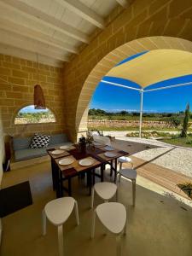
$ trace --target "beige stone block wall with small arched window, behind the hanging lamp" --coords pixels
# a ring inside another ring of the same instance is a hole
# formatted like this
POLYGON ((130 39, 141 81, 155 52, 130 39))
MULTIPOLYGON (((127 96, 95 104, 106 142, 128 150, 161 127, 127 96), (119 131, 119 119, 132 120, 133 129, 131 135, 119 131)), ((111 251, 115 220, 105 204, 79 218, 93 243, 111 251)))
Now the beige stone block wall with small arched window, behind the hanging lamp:
POLYGON ((38 67, 39 84, 44 90, 46 106, 55 113, 56 123, 14 124, 18 110, 33 104, 33 88, 37 84, 37 63, 0 55, 0 107, 4 134, 27 137, 37 131, 50 134, 65 131, 61 68, 43 64, 39 64, 38 67))

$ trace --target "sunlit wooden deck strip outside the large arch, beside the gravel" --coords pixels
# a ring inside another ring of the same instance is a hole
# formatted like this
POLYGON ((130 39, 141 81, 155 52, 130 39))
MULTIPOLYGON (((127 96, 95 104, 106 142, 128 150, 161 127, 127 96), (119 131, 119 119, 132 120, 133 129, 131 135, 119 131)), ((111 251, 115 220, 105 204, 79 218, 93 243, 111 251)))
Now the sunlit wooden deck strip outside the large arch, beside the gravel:
MULTIPOLYGON (((189 199, 189 196, 179 189, 177 184, 191 182, 192 179, 190 177, 186 177, 179 172, 174 172, 163 166, 155 165, 150 161, 142 160, 134 156, 131 156, 131 159, 133 160, 134 168, 137 170, 138 175, 148 178, 150 181, 189 199)), ((130 167, 129 164, 124 165, 130 167)))

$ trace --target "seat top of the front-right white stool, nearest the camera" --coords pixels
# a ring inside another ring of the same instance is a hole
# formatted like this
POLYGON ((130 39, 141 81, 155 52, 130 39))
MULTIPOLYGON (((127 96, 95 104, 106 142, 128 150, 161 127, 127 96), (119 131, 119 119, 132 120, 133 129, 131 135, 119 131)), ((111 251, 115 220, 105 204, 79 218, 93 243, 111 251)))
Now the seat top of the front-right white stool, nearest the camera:
POLYGON ((103 203, 96 207, 96 214, 102 224, 113 234, 118 235, 125 228, 126 209, 118 202, 103 203))

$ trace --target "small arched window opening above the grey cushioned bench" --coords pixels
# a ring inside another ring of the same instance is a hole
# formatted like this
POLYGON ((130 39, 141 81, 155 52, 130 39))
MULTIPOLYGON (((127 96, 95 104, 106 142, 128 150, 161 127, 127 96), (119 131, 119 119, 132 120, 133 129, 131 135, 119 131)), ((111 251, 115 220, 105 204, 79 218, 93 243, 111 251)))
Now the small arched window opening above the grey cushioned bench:
POLYGON ((21 108, 15 116, 15 125, 55 123, 55 114, 49 108, 35 109, 34 105, 21 108))

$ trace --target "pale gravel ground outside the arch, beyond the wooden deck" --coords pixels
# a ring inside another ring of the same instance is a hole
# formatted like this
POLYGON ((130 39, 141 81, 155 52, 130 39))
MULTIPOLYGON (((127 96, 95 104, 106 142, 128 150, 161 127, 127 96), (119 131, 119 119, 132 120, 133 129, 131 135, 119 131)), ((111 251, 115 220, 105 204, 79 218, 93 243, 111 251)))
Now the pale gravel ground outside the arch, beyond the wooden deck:
POLYGON ((154 164, 192 177, 192 148, 172 146, 155 139, 125 137, 126 133, 127 131, 104 131, 104 135, 110 134, 119 140, 160 146, 160 148, 144 150, 133 155, 143 160, 152 160, 154 164), (153 160, 154 158, 157 159, 153 160))

